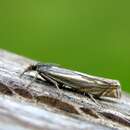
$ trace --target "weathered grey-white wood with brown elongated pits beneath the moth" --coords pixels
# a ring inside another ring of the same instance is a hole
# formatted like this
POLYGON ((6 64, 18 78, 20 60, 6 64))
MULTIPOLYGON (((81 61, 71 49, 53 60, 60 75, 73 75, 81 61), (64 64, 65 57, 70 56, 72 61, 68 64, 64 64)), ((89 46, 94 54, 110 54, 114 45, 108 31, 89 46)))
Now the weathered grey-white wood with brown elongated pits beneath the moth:
POLYGON ((0 129, 17 130, 127 130, 130 129, 130 96, 97 100, 61 90, 40 77, 29 87, 34 73, 20 74, 36 61, 0 50, 0 129))

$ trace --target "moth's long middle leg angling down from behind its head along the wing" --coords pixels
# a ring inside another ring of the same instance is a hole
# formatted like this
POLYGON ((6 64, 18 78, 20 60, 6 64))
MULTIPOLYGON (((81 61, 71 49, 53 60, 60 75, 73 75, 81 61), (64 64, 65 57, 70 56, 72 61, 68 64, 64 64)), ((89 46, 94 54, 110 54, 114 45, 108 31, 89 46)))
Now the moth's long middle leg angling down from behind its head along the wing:
POLYGON ((60 90, 60 88, 59 88, 59 85, 58 85, 58 83, 57 83, 55 80, 53 80, 53 79, 50 78, 48 75, 43 74, 43 73, 39 73, 39 75, 40 75, 42 78, 44 78, 46 81, 49 81, 50 83, 53 83, 53 84, 56 86, 56 88, 58 89, 60 95, 62 95, 62 92, 61 92, 61 90, 60 90))

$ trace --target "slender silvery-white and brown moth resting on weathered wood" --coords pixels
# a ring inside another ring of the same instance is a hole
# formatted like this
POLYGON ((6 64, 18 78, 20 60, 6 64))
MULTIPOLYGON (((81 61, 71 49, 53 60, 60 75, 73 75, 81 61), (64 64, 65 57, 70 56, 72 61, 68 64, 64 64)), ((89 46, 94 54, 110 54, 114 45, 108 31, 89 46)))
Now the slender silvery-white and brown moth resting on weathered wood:
POLYGON ((36 71, 44 80, 53 83, 58 89, 61 86, 68 86, 77 92, 97 98, 102 96, 121 97, 121 85, 117 80, 92 76, 53 64, 37 63, 30 65, 21 75, 29 71, 36 71))

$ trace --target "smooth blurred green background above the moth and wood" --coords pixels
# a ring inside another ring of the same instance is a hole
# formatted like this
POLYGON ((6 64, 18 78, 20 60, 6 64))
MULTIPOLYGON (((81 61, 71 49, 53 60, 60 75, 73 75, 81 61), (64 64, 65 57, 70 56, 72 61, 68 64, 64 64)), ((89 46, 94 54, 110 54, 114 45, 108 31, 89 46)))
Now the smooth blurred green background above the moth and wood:
POLYGON ((0 0, 0 48, 118 79, 130 92, 130 1, 0 0))

